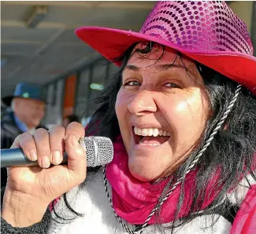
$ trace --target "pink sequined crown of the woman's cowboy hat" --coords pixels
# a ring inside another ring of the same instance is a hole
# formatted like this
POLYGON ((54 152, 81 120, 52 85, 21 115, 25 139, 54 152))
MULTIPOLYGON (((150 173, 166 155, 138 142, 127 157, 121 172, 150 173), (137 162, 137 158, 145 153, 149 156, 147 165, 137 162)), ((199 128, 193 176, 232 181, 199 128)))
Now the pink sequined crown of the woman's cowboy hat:
POLYGON ((225 2, 158 2, 139 31, 184 49, 253 54, 246 24, 225 2))

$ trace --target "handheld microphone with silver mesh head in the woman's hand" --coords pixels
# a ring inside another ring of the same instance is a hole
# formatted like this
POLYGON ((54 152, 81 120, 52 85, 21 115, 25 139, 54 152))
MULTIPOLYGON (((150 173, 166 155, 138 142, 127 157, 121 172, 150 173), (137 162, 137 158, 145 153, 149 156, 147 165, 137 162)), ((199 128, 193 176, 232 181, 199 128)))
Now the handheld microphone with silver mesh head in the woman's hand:
MULTIPOLYGON (((87 166, 102 166, 113 159, 113 144, 107 137, 80 138, 80 144, 86 150, 87 166)), ((68 155, 65 152, 61 164, 67 163, 68 155)), ((29 160, 21 148, 1 149, 1 167, 37 165, 37 161, 29 160)))

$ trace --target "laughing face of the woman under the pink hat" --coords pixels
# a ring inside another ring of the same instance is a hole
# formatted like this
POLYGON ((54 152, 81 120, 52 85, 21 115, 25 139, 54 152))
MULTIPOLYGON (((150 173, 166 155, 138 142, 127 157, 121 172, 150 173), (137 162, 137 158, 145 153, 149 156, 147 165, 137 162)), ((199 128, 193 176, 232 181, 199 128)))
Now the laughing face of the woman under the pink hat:
POLYGON ((155 48, 149 56, 133 53, 117 94, 129 170, 141 181, 154 180, 183 163, 202 137, 209 113, 193 61, 181 60, 171 49, 166 48, 163 57, 161 53, 155 48))

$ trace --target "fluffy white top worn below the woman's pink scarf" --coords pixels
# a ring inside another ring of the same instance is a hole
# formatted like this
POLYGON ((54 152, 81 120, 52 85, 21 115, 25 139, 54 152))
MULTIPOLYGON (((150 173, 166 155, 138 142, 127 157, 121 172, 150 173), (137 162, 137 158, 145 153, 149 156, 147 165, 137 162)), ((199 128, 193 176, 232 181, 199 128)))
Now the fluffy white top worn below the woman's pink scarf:
MULTIPOLYGON (((111 196, 111 187, 109 188, 109 195, 111 196)), ((241 187, 242 188, 242 187, 241 187)), ((247 193, 247 188, 243 187, 243 191, 240 191, 240 199, 243 200, 247 193)), ((83 214, 83 217, 77 217, 75 214, 65 206, 64 199, 61 197, 59 202, 55 205, 54 209, 56 213, 62 218, 75 218, 71 221, 63 221, 57 218, 53 213, 53 218, 62 224, 58 224, 56 221, 52 221, 50 230, 48 233, 55 234, 126 234, 121 224, 117 221, 117 218, 113 214, 113 210, 110 206, 109 199, 106 196, 102 170, 98 170, 96 173, 87 174, 87 179, 80 186, 73 188, 68 194, 67 199, 70 206, 76 210, 76 212, 83 214), (65 224, 63 224, 65 222, 65 224)), ((232 202, 232 195, 230 196, 232 202)), ((217 217, 217 216, 216 216, 217 217)), ((212 215, 202 215, 193 219, 191 222, 184 225, 182 228, 175 230, 176 234, 186 233, 205 233, 205 234, 227 234, 232 227, 231 223, 222 216, 217 222, 210 228, 206 228, 211 225, 212 215)), ((130 229, 132 225, 128 225, 130 229)), ((147 226, 143 233, 160 233, 154 225, 147 226)), ((170 233, 166 230, 165 233, 170 233)))

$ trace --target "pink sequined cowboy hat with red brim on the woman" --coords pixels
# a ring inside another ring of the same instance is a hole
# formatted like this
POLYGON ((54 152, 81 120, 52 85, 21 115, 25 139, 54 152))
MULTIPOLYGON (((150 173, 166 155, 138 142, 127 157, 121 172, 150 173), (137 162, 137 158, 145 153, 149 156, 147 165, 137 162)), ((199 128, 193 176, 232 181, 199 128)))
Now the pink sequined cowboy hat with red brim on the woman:
POLYGON ((247 86, 256 95, 256 57, 247 26, 225 2, 158 2, 139 32, 80 27, 76 35, 111 61, 136 42, 158 42, 247 86))

